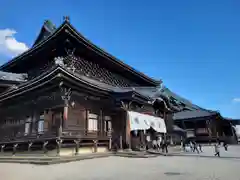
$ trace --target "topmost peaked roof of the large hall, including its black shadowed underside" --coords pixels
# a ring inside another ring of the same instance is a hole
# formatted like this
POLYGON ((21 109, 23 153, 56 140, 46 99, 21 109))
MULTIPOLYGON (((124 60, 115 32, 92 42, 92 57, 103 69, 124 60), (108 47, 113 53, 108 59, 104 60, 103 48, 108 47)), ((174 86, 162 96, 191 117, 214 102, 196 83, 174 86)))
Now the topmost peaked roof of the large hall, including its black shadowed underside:
MULTIPOLYGON (((45 50, 44 47, 53 48, 51 45, 55 44, 56 42, 59 46, 65 46, 66 41, 69 42, 70 40, 78 43, 77 45, 75 44, 74 47, 81 48, 81 51, 84 51, 86 54, 91 56, 91 58, 94 57, 95 59, 99 59, 100 62, 107 64, 107 66, 113 71, 124 73, 131 80, 140 82, 139 84, 141 85, 158 86, 161 84, 161 80, 155 80, 145 75, 144 73, 134 69, 133 67, 130 67, 123 61, 117 59, 105 50, 93 44, 81 33, 79 33, 69 22, 69 20, 65 20, 58 28, 55 28, 50 21, 45 22, 39 36, 34 43, 34 46, 9 62, 3 64, 0 67, 0 70, 8 72, 25 72, 26 69, 23 68, 23 64, 32 61, 33 58, 31 57, 33 57, 33 54, 37 56, 38 53, 41 53, 40 51, 45 50), (18 71, 20 67, 22 67, 24 70, 18 71)), ((50 52, 53 50, 56 49, 49 49, 50 52)), ((44 53, 48 52, 45 51, 44 53)))

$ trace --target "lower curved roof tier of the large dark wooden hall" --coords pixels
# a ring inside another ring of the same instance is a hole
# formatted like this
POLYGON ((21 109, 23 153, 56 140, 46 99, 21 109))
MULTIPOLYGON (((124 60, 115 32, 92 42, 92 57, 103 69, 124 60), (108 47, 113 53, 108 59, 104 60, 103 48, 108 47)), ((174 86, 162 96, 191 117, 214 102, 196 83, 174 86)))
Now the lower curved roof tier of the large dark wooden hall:
POLYGON ((54 81, 56 79, 59 79, 59 82, 62 80, 65 80, 66 82, 75 84, 75 86, 79 86, 80 88, 84 87, 86 89, 89 89, 92 92, 98 92, 98 93, 109 94, 109 95, 113 95, 114 93, 115 94, 116 93, 117 94, 132 93, 133 95, 135 95, 136 97, 139 97, 144 101, 149 100, 149 97, 144 96, 143 94, 140 94, 133 90, 130 90, 130 89, 124 90, 121 88, 114 88, 113 86, 104 84, 102 82, 98 82, 86 76, 74 74, 64 69, 63 67, 56 66, 44 72, 42 75, 38 76, 37 78, 34 78, 28 82, 20 84, 19 86, 17 86, 16 89, 13 89, 11 91, 7 91, 1 94, 0 101, 4 101, 6 99, 13 98, 15 96, 24 94, 26 92, 30 92, 32 90, 35 90, 36 88, 41 88, 47 83, 54 81))

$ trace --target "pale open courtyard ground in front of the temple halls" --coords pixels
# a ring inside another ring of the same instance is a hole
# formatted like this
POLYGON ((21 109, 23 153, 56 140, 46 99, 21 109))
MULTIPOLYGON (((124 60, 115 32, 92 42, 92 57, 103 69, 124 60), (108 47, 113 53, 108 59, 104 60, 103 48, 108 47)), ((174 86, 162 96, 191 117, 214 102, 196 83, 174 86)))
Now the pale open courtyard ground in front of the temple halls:
MULTIPOLYGON (((232 153, 236 154, 238 148, 238 146, 230 147, 230 150, 232 153)), ((209 148, 209 150, 211 149, 209 148)), ((240 152, 238 151, 238 153, 240 152)), ((239 167, 239 158, 159 156, 156 158, 138 159, 108 157, 49 166, 30 164, 0 164, 0 179, 240 180, 239 167)))

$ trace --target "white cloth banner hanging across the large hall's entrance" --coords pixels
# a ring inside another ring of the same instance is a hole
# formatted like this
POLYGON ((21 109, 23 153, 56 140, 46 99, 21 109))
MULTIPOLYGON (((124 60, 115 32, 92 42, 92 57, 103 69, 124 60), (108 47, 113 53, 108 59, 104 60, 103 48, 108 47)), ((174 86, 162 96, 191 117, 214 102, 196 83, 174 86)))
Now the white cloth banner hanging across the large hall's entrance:
POLYGON ((166 133, 166 125, 162 118, 128 111, 130 130, 147 130, 152 127, 155 131, 166 133))

